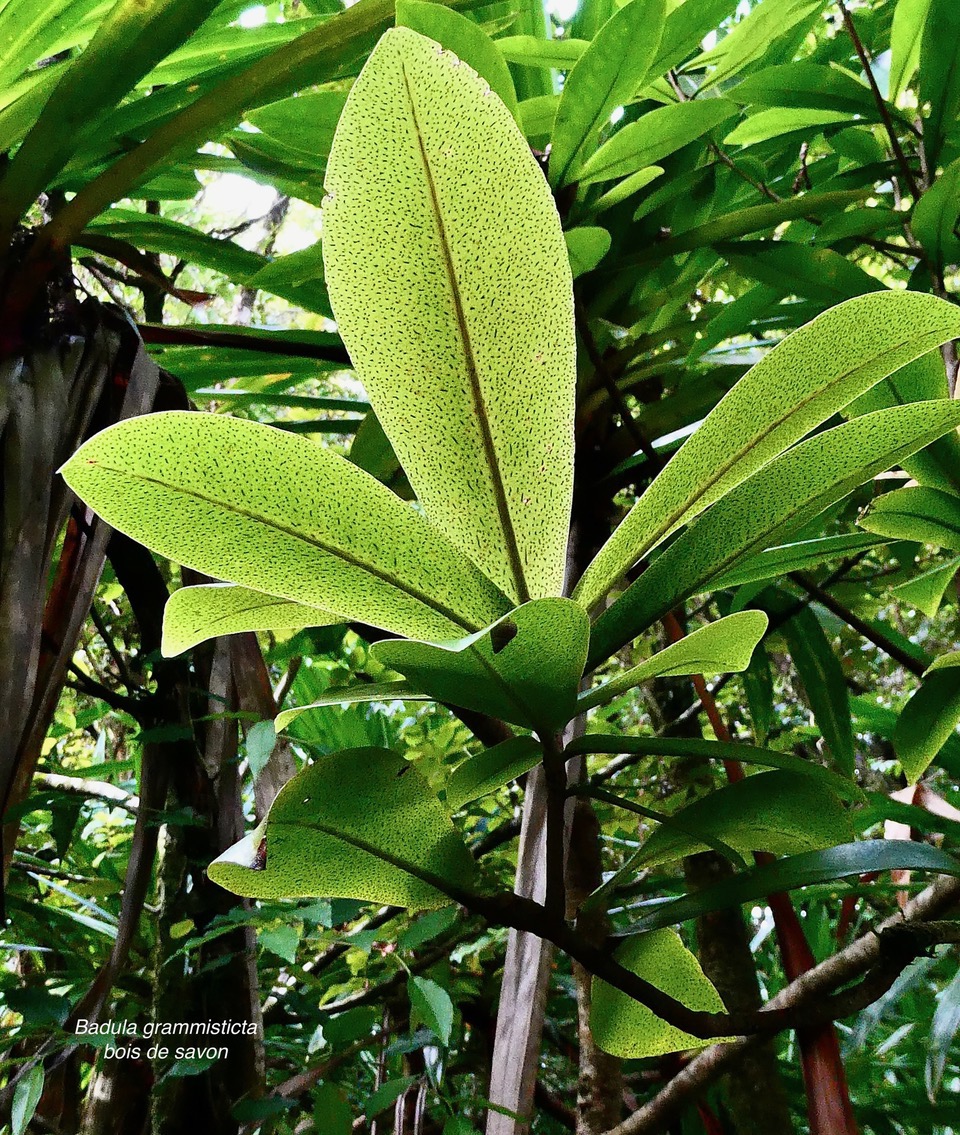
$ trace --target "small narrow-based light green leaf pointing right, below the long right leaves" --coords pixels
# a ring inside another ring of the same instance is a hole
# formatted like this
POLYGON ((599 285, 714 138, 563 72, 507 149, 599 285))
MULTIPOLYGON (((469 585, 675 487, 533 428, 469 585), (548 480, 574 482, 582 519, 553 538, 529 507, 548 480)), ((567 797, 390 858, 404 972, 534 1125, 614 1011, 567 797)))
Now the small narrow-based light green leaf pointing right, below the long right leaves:
POLYGON ((741 611, 701 627, 639 666, 617 674, 596 689, 581 693, 581 712, 600 706, 650 678, 665 674, 740 673, 767 629, 763 611, 741 611))

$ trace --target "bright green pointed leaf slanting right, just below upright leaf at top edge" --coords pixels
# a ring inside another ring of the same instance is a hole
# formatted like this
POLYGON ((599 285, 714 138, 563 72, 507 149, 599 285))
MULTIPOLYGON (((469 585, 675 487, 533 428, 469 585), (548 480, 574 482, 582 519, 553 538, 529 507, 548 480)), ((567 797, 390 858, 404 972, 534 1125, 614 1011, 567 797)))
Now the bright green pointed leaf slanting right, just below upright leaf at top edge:
POLYGON ((581 185, 592 185, 626 177, 704 138, 736 112, 736 104, 726 99, 679 102, 650 110, 605 142, 580 170, 578 180, 581 185))

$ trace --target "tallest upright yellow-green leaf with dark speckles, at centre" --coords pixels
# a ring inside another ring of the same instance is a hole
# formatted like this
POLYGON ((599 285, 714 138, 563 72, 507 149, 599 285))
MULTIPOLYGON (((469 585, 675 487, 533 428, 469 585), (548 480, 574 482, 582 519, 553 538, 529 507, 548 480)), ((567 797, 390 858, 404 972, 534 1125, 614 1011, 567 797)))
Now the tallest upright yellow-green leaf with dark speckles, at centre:
POLYGON ((325 184, 337 322, 428 516, 514 599, 559 595, 572 285, 519 127, 471 68, 394 28, 351 91, 325 184))

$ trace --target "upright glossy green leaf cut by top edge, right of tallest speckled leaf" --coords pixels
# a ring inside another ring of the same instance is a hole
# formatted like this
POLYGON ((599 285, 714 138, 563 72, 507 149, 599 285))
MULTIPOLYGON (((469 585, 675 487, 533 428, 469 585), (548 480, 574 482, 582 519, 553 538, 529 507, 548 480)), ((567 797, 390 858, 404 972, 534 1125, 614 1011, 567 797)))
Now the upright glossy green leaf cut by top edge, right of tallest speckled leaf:
POLYGON ((664 0, 630 0, 567 75, 550 143, 551 185, 576 179, 600 127, 640 90, 659 47, 665 7, 664 0))

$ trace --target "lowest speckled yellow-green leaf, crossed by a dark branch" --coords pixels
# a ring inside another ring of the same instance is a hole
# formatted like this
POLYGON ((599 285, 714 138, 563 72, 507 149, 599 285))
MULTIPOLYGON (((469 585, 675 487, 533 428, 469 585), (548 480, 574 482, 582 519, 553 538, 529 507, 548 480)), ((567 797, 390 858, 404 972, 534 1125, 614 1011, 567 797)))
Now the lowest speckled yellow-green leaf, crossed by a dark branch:
MULTIPOLYGON (((724 1012, 719 993, 676 931, 638 934, 628 939, 615 957, 622 966, 689 1009, 724 1012)), ((714 1043, 668 1025, 654 1016, 651 1009, 598 978, 593 980, 591 994, 590 1032, 605 1052, 630 1060, 714 1043)))

